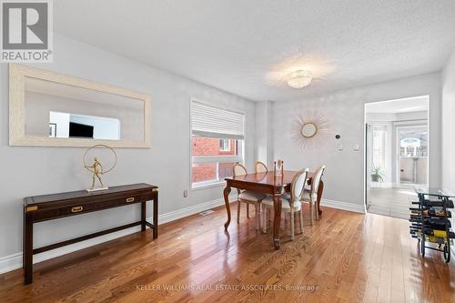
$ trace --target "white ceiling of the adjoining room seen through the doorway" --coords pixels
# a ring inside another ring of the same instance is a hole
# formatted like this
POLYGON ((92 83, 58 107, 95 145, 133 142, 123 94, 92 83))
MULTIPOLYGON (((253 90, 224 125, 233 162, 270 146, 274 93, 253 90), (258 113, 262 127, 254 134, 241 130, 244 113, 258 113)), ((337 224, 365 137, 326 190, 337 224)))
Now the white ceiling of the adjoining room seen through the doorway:
POLYGON ((368 103, 365 105, 368 114, 399 114, 409 112, 427 111, 429 106, 428 96, 416 96, 384 102, 368 103))

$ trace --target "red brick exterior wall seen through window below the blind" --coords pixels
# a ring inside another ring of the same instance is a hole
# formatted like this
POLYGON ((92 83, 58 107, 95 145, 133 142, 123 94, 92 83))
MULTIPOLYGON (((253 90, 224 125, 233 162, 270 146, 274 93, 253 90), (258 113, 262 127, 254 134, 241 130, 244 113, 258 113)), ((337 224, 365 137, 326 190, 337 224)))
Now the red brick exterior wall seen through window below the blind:
MULTIPOLYGON (((208 137, 192 138, 193 156, 235 156, 237 154, 237 140, 229 140, 230 149, 228 151, 219 150, 220 139, 208 137)), ((219 178, 232 176, 232 166, 234 163, 220 163, 218 165, 219 178)), ((193 164, 192 182, 201 182, 217 179, 217 164, 193 164)))

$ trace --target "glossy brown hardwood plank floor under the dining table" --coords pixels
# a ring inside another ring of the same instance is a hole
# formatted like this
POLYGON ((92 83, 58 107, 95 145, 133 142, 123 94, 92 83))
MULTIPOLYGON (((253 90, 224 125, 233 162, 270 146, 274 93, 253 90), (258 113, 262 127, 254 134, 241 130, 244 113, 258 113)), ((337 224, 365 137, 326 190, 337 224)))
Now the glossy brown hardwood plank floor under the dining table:
POLYGON ((287 228, 274 250, 254 217, 225 234, 217 207, 161 226, 153 242, 148 229, 36 264, 32 285, 22 269, 1 275, 0 302, 455 301, 453 262, 421 259, 407 221, 322 210, 309 226, 306 208, 303 235, 290 242, 287 228))

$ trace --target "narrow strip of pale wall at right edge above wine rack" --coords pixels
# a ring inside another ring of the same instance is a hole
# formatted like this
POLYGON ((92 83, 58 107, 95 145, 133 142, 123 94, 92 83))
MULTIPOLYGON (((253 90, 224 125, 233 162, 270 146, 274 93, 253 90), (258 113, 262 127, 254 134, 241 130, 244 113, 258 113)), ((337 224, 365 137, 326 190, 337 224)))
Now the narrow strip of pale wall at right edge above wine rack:
POLYGON ((442 187, 455 193, 455 52, 442 72, 442 187))

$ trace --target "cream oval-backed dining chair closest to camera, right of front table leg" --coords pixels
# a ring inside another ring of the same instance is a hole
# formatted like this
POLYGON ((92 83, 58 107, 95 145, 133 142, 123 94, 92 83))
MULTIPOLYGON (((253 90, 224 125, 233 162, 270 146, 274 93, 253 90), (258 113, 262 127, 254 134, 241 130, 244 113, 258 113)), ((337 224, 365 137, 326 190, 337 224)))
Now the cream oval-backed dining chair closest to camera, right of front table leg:
MULTIPOLYGON (((298 213, 298 221, 300 225, 300 233, 303 233, 303 212, 302 212, 302 203, 300 202, 303 193, 303 187, 307 182, 308 177, 308 168, 298 171, 296 176, 293 177, 292 183, 290 185, 290 196, 282 195, 281 196, 281 211, 290 216, 290 238, 294 239, 294 214, 298 213)), ((262 201, 262 207, 268 209, 273 209, 273 197, 268 196, 262 201)), ((268 223, 268 212, 263 211, 263 225, 262 231, 267 232, 267 223, 268 223)))

